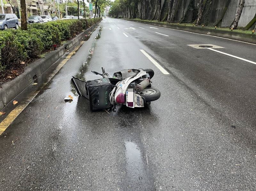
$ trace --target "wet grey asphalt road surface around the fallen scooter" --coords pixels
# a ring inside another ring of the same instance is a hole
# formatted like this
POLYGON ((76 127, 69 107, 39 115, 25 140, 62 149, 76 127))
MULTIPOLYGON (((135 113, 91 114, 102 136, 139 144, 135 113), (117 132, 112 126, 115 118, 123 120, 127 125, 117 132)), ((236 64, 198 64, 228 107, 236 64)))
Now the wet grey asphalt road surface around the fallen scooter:
POLYGON ((256 46, 121 19, 100 26, 0 136, 0 190, 256 190, 256 65, 187 45, 253 62, 256 46), (152 68, 161 98, 90 112, 70 79, 100 78, 90 71, 101 67, 152 68))

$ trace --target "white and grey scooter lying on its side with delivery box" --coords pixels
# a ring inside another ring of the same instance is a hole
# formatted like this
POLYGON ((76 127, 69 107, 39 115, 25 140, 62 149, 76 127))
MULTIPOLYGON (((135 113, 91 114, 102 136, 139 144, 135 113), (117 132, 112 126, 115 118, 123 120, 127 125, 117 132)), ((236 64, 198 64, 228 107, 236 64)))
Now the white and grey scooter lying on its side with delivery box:
POLYGON ((90 100, 92 111, 115 105, 145 107, 161 96, 159 90, 151 87, 151 79, 154 76, 152 69, 125 69, 115 72, 113 77, 110 77, 104 68, 101 69, 102 74, 92 71, 101 75, 101 79, 85 82, 76 77, 72 78, 77 93, 90 100))

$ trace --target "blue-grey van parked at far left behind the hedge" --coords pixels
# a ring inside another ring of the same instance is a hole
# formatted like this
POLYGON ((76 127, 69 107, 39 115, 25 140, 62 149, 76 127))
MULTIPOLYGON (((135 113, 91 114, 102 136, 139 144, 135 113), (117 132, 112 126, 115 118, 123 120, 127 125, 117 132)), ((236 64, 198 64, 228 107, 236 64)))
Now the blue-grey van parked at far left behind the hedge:
POLYGON ((0 30, 18 27, 19 20, 15 14, 0 14, 0 30))

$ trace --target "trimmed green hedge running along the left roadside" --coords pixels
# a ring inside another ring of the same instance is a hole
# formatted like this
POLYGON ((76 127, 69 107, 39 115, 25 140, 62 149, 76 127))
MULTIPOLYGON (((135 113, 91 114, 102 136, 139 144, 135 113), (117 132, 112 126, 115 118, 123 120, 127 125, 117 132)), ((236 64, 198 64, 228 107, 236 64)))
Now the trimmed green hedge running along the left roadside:
POLYGON ((53 45, 70 40, 102 18, 68 19, 28 25, 28 30, 0 31, 0 76, 3 71, 19 66, 22 61, 39 58, 53 45))

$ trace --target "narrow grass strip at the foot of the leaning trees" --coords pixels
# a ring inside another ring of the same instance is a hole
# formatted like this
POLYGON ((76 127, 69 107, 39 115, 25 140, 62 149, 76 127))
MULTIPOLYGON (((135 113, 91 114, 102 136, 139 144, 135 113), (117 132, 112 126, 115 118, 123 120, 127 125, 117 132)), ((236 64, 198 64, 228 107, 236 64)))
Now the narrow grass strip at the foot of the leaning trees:
MULTIPOLYGON (((129 19, 129 20, 138 20, 138 21, 148 21, 148 22, 152 22, 152 23, 162 23, 162 24, 165 24, 165 25, 181 25, 181 26, 190 26, 190 27, 198 27, 198 28, 202 28, 202 25, 200 26, 196 26, 194 25, 193 26, 193 23, 168 23, 167 21, 163 21, 163 22, 158 22, 157 20, 142 20, 140 18, 134 18, 134 19, 129 19)), ((215 27, 211 27, 211 26, 204 26, 204 28, 208 28, 208 29, 212 29, 212 30, 222 30, 222 31, 230 31, 230 32, 233 32, 233 33, 244 33, 244 34, 252 34, 252 31, 251 30, 248 30, 248 31, 243 31, 242 28, 238 28, 238 29, 235 29, 233 31, 231 31, 231 29, 229 29, 229 27, 217 27, 215 29, 215 27)), ((254 33, 256 35, 256 33, 254 33)))

